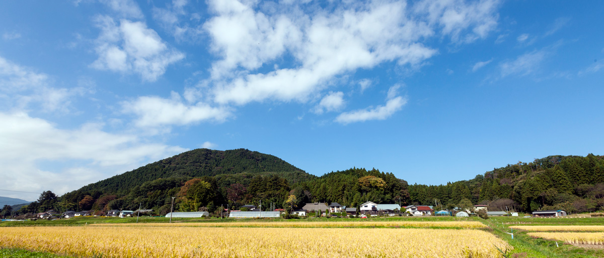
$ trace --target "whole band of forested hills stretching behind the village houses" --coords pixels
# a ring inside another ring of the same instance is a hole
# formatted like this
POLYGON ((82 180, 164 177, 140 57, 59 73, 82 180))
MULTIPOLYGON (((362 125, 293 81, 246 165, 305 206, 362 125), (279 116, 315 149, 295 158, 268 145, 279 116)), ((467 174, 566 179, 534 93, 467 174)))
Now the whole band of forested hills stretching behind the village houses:
POLYGON ((237 209, 260 201, 263 209, 269 205, 300 208, 309 202, 358 207, 373 201, 436 205, 436 209, 487 204, 491 210, 591 212, 604 209, 604 157, 548 156, 495 168, 471 180, 427 186, 408 185, 377 169, 352 168, 316 177, 277 157, 247 149, 195 149, 89 184, 56 200, 41 196, 20 212, 39 212, 49 206, 98 212, 142 206, 165 214, 172 197, 175 210, 181 212, 213 212, 220 205, 237 209), (294 199, 289 198, 292 195, 294 199), (288 199, 290 203, 286 203, 288 199))

